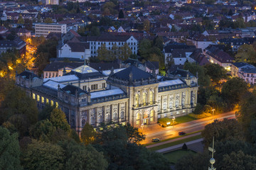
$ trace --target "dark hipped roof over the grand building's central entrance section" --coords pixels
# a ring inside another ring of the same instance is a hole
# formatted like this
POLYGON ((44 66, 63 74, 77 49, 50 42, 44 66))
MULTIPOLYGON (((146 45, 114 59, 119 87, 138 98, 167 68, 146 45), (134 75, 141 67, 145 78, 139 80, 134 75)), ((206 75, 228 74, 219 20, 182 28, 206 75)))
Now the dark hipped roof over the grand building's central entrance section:
POLYGON ((141 80, 141 79, 154 79, 153 75, 149 74, 148 72, 144 72, 142 69, 139 69, 135 66, 128 67, 127 69, 123 69, 120 72, 113 74, 112 77, 117 79, 123 80, 130 80, 130 74, 132 74, 132 81, 134 80, 141 80))

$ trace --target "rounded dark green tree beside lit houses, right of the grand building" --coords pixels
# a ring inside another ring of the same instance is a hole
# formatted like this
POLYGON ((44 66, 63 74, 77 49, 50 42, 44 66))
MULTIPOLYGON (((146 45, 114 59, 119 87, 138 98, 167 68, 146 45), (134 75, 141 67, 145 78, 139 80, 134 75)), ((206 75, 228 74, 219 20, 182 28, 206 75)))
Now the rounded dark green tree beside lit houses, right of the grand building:
POLYGON ((204 67, 206 68, 206 74, 208 74, 210 79, 215 83, 218 83, 220 79, 227 78, 227 71, 219 64, 206 64, 204 67))

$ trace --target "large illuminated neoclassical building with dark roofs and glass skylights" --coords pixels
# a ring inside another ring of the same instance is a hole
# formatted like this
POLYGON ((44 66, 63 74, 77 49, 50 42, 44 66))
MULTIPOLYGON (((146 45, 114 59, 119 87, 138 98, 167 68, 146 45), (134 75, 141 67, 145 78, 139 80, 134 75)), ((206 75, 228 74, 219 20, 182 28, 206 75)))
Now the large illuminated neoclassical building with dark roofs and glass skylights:
POLYGON ((59 107, 78 132, 85 123, 156 123, 193 111, 197 102, 197 78, 185 70, 160 77, 137 67, 98 72, 87 65, 63 77, 40 79, 32 72, 16 75, 16 85, 35 99, 59 107))

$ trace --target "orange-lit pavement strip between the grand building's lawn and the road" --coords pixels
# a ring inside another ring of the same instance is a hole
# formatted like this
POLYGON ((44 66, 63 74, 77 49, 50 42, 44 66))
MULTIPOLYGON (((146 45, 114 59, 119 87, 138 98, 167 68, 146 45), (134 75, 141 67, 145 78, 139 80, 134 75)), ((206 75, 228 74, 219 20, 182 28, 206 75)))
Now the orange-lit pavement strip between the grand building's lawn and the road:
MULTIPOLYGON (((214 115, 214 119, 218 119, 218 118, 222 118, 222 117, 229 117, 228 115, 235 115, 235 111, 231 111, 228 113, 222 113, 222 114, 218 114, 218 115, 214 115)), ((187 123, 181 123, 178 125, 174 125, 173 128, 182 128, 184 126, 189 126, 189 125, 193 125, 196 123, 202 123, 204 121, 208 121, 208 120, 213 120, 213 117, 208 117, 208 118, 203 118, 203 119, 198 119, 198 120, 192 120, 190 122, 187 123)), ((152 124, 152 125, 144 125, 142 132, 144 133, 144 135, 149 135, 155 132, 161 132, 161 131, 166 131, 166 130, 171 130, 172 127, 167 127, 167 128, 162 128, 161 125, 159 125, 158 123, 156 124, 152 124)), ((140 128, 142 129, 142 128, 140 128)))

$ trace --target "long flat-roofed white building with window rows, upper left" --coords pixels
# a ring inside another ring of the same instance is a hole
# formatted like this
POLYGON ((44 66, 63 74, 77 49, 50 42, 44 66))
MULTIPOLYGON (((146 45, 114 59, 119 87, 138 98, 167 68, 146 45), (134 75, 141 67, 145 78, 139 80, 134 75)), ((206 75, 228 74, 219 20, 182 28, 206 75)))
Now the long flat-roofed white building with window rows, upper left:
POLYGON ((35 25, 36 37, 47 37, 49 33, 67 33, 66 24, 57 23, 36 23, 35 25))

